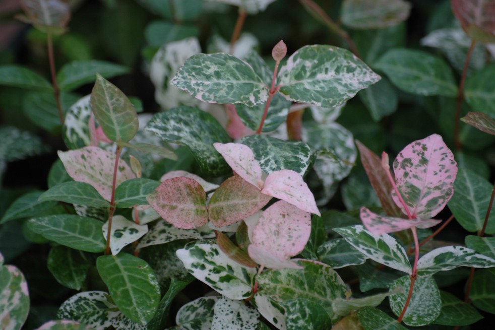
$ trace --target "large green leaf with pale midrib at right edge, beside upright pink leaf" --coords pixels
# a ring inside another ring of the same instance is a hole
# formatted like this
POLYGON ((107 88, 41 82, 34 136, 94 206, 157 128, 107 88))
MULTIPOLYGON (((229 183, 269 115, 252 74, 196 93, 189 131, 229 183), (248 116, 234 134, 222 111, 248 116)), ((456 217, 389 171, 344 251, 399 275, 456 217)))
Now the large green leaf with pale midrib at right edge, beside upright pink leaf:
MULTIPOLYGON (((454 195, 448 206, 457 222, 467 231, 476 232, 483 228, 492 188, 492 184, 474 171, 459 168, 454 181, 454 195)), ((495 214, 493 213, 490 213, 485 232, 495 233, 495 214)))

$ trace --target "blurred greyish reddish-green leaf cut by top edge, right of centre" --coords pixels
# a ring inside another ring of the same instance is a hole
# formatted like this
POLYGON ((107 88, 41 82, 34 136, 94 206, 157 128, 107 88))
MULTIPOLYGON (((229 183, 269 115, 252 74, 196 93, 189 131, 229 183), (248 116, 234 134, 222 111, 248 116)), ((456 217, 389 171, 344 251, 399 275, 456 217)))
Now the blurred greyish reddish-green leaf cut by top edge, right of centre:
POLYGON ((402 0, 345 0, 340 18, 353 29, 382 29, 405 21, 410 10, 411 5, 402 0))

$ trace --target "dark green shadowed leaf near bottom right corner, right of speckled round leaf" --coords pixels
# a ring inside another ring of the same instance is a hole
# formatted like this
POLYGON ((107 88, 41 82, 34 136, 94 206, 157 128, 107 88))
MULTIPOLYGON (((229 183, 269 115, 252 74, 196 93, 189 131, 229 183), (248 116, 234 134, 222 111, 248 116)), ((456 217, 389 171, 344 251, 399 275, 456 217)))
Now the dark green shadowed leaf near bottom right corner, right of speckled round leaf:
POLYGON ((446 291, 440 291, 442 309, 435 324, 442 325, 469 325, 483 318, 481 314, 470 304, 460 300, 446 291))

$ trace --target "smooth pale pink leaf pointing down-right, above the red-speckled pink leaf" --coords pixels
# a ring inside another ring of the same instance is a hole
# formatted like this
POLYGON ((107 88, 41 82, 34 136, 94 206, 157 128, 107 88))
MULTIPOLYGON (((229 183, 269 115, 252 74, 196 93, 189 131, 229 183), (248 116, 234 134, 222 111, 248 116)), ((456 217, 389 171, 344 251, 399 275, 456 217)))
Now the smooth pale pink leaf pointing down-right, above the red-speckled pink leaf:
POLYGON ((315 196, 302 177, 292 170, 276 171, 268 175, 261 192, 277 197, 306 212, 320 215, 315 196))

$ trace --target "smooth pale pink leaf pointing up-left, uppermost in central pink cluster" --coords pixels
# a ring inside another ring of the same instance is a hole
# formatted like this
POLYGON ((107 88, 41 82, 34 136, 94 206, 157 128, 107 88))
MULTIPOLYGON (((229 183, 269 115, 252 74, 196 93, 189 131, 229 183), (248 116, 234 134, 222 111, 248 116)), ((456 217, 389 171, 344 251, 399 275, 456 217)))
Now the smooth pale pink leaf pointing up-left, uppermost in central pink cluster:
POLYGON ((260 187, 263 172, 250 147, 240 143, 218 142, 213 146, 237 175, 255 187, 260 187))

